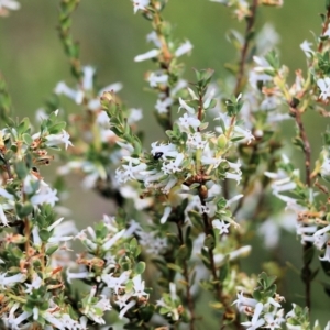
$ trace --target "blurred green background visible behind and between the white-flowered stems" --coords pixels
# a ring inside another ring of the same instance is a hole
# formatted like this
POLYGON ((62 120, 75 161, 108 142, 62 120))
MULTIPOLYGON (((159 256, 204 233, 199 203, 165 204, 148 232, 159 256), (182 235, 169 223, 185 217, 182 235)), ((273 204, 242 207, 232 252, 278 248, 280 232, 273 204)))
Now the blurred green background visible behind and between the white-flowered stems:
MULTIPOLYGON (((68 84, 75 81, 70 77, 67 58, 57 35, 58 1, 22 0, 21 3, 21 10, 0 19, 0 72, 8 82, 14 114, 19 118, 34 118, 35 110, 43 106, 59 80, 68 84)), ((292 73, 297 68, 305 70, 305 55, 299 44, 304 40, 314 41, 311 31, 319 34, 319 13, 322 11, 323 1, 308 0, 287 0, 282 9, 258 10, 256 25, 262 26, 265 22, 274 24, 282 37, 278 46, 282 63, 292 73)), ((164 16, 176 26, 177 38, 188 38, 194 44, 193 54, 183 58, 186 62, 186 78, 193 79, 191 67, 210 67, 216 70, 216 78, 224 76, 224 63, 235 56, 235 51, 227 42, 224 34, 230 29, 243 31, 244 22, 239 24, 231 18, 230 9, 208 0, 172 0, 164 16)), ((74 15, 73 33, 75 40, 80 42, 82 65, 98 68, 99 86, 121 81, 124 85, 121 91, 123 100, 130 107, 141 107, 146 112, 152 112, 156 95, 143 90, 146 87, 143 75, 147 69, 154 69, 154 64, 133 62, 134 56, 152 48, 145 41, 148 32, 150 22, 140 14, 133 14, 129 0, 81 0, 74 15)), ((142 127, 150 134, 147 141, 154 141, 160 138, 158 127, 152 116, 145 118, 142 127)), ((307 114, 305 120, 316 156, 320 150, 320 132, 327 123, 312 113, 307 114)), ((290 139, 293 132, 292 124, 284 125, 284 139, 290 139)), ((302 162, 300 153, 293 155, 297 162, 302 162)), ((70 182, 70 186, 74 191, 69 201, 73 207, 72 218, 78 222, 79 228, 99 220, 102 213, 110 212, 109 201, 90 191, 81 191, 78 180, 70 182)), ((302 249, 299 241, 285 233, 283 242, 277 251, 283 263, 290 262, 300 268, 302 249)), ((254 257, 246 258, 244 266, 246 272, 260 272, 261 260, 272 258, 272 255, 267 255, 261 240, 254 239, 252 243, 254 257)), ((299 274, 288 268, 287 276, 292 278, 287 283, 292 295, 287 296, 287 302, 295 300, 304 305, 299 274)), ((323 324, 329 319, 329 301, 320 284, 316 282, 312 318, 319 318, 323 324)))

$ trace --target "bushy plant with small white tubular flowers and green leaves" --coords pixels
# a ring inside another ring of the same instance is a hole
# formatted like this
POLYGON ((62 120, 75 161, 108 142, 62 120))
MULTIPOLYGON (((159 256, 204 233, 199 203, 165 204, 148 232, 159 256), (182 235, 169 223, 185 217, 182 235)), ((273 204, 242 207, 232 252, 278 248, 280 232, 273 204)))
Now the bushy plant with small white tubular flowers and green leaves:
MULTIPOLYGON (((330 292, 330 131, 314 160, 304 119, 329 118, 330 2, 315 42, 300 45, 306 74, 292 84, 274 29, 255 31, 258 8, 283 1, 211 1, 246 22, 244 35, 229 34, 239 59, 218 82, 210 68, 185 79, 193 44, 175 37, 166 0, 132 1, 152 26, 152 50, 134 57, 153 62, 145 80, 164 134, 151 145, 138 124, 147 112, 127 106, 120 82, 99 89, 81 64, 72 35, 79 0, 61 0, 58 18, 76 86, 59 81, 35 124, 12 116, 0 76, 1 329, 330 329, 328 315, 320 326, 311 314, 315 282, 322 299, 330 292), (302 166, 284 152, 284 121, 302 166), (85 229, 66 220, 68 174, 112 212, 85 229), (288 265, 304 284, 299 305, 275 253, 282 228, 301 245, 301 271, 288 265), (258 275, 244 263, 261 257, 254 233, 275 255, 258 275)), ((0 15, 18 9, 0 0, 0 15)))

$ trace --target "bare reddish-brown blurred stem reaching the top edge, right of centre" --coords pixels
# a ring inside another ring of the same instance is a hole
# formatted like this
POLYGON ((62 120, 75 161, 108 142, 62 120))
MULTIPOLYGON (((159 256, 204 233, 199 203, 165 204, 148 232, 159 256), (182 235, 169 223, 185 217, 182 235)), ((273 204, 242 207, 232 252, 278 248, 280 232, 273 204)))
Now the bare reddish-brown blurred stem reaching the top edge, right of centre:
POLYGON ((245 63, 246 63, 246 56, 248 56, 248 50, 251 41, 251 32, 253 30, 254 23, 255 23, 255 16, 256 16, 256 8, 257 8, 257 0, 253 0, 251 6, 251 15, 246 18, 246 29, 245 29, 245 41, 244 45, 241 52, 241 59, 239 65, 239 73, 238 73, 238 80, 234 89, 234 95, 239 96, 239 94, 242 90, 242 84, 244 79, 244 72, 245 72, 245 63))

